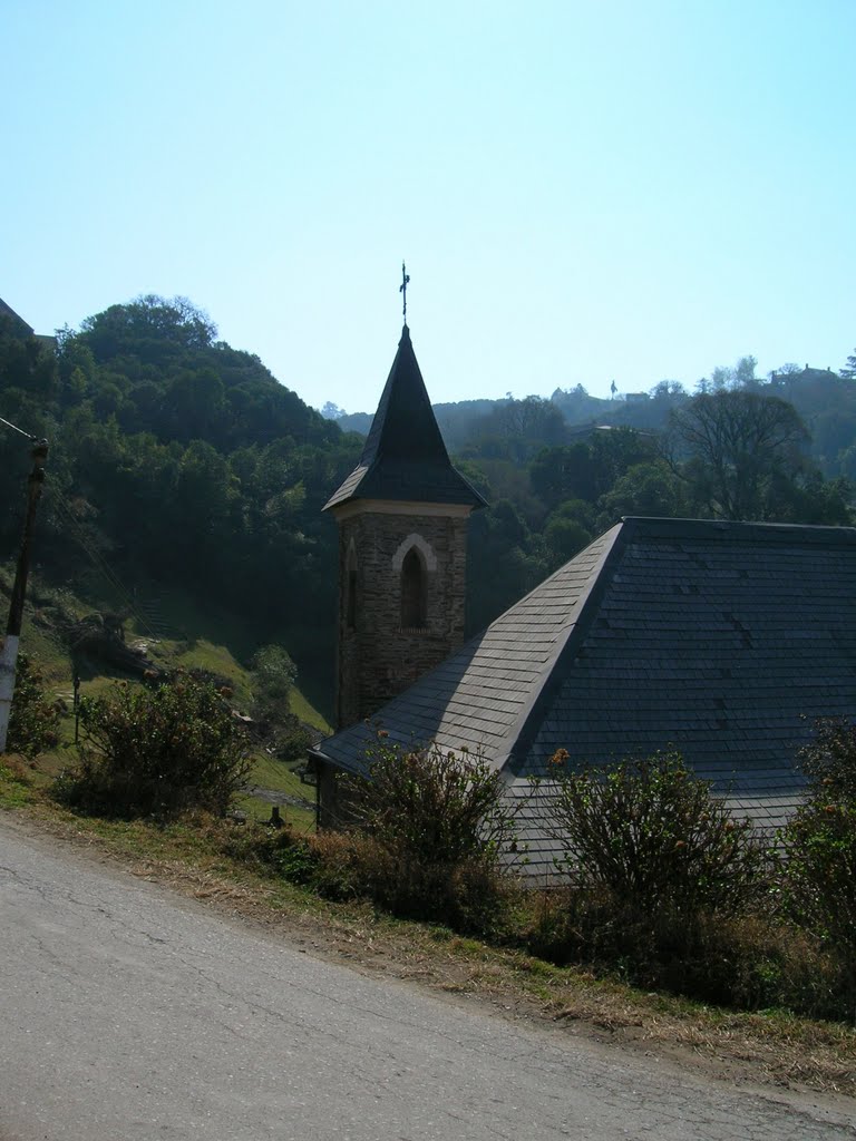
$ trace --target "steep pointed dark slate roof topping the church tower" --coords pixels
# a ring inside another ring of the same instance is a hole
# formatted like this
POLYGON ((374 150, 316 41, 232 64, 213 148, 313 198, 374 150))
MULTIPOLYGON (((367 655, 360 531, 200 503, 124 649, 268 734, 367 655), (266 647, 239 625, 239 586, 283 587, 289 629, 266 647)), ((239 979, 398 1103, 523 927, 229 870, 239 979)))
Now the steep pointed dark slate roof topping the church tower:
POLYGON ((324 510, 355 499, 484 505, 452 467, 406 325, 360 463, 324 510))

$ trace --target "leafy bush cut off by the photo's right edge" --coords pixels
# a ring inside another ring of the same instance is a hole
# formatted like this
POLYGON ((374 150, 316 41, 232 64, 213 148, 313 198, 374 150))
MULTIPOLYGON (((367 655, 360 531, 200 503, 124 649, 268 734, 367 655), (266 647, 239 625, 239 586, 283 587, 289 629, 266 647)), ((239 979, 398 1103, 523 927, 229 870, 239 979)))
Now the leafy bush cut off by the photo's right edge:
POLYGON ((856 726, 817 722, 800 751, 805 801, 781 831, 785 914, 856 956, 856 726))

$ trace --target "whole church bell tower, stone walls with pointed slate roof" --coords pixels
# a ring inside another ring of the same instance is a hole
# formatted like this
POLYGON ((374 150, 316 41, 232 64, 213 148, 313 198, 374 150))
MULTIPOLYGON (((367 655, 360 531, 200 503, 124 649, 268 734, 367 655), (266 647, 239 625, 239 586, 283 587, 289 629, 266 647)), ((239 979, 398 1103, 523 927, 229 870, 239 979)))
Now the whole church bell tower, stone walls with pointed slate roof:
POLYGON ((324 508, 339 525, 337 729, 463 641, 467 519, 479 507, 449 459, 405 323, 360 463, 324 508))

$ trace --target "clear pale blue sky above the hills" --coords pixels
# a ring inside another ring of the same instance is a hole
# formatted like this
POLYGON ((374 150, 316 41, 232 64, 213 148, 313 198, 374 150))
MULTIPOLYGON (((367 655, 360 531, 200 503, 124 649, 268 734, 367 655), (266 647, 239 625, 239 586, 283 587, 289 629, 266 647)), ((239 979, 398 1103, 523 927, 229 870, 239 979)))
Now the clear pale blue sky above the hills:
POLYGON ((0 0, 0 297, 183 294, 314 406, 856 345, 854 0, 0 0))

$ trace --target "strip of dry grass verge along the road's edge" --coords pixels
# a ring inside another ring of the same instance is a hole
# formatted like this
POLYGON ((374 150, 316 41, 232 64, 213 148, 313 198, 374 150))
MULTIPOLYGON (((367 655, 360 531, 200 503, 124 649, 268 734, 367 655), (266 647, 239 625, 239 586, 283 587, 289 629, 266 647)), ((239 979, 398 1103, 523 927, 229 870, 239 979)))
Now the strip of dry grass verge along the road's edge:
MULTIPOLYGON (((25 771, 16 775, 26 779, 25 771)), ((9 785, 0 779, 0 794, 9 785)), ((22 800, 16 795, 5 803, 18 806, 22 800)), ((362 972, 406 979, 504 1018, 654 1052, 732 1081, 856 1097, 856 1030, 850 1027, 776 1011, 735 1013, 645 993, 580 969, 496 950, 446 929, 395 921, 368 905, 324 901, 228 859, 217 842, 224 827, 219 823, 158 828, 140 822, 91 820, 56 808, 38 793, 9 815, 362 972)))

